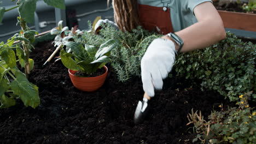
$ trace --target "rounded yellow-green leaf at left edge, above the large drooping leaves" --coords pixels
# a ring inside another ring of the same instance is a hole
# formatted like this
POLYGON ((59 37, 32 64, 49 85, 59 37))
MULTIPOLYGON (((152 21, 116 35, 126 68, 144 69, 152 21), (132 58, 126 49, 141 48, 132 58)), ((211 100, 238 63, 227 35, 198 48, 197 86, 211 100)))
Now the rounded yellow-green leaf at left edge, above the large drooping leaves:
POLYGON ((13 50, 4 50, 1 53, 1 56, 10 68, 14 68, 16 66, 16 56, 13 50))

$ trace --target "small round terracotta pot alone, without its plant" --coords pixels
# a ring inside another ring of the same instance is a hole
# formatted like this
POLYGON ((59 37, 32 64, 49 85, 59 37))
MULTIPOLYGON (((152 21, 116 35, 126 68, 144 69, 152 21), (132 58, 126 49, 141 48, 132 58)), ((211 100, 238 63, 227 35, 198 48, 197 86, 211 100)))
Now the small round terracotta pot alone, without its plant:
POLYGON ((103 85, 104 81, 106 80, 108 68, 104 66, 104 69, 105 69, 104 74, 100 76, 95 76, 95 77, 75 76, 74 73, 76 71, 71 69, 68 69, 68 73, 73 85, 77 89, 85 92, 92 92, 100 88, 103 85))

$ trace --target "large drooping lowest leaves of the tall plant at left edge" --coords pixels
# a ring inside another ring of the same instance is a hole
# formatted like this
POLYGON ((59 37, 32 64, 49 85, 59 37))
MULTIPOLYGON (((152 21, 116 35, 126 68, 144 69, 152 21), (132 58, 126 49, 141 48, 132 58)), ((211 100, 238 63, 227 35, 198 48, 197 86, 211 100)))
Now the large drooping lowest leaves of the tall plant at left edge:
MULTIPOLYGON (((1 56, 3 53, 5 51, 1 56)), ((15 55, 14 52, 11 55, 13 54, 15 55)), ((25 106, 35 108, 40 104, 38 87, 26 79, 26 76, 16 67, 16 61, 15 65, 13 64, 11 55, 4 56, 7 57, 5 59, 11 59, 10 61, 3 61, 0 57, 0 108, 15 105, 16 98, 21 98, 25 106)))

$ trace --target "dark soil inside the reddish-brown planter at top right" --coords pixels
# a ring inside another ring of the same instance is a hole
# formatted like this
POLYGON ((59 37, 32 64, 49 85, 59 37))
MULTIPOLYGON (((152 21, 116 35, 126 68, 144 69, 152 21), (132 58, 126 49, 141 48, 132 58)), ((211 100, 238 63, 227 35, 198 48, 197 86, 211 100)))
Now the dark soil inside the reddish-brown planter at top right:
POLYGON ((242 9, 243 2, 236 3, 236 2, 230 2, 229 0, 225 1, 214 1, 213 5, 216 7, 218 10, 226 10, 226 11, 235 11, 235 12, 241 12, 241 13, 251 13, 251 14, 256 14, 256 11, 246 11, 242 9))

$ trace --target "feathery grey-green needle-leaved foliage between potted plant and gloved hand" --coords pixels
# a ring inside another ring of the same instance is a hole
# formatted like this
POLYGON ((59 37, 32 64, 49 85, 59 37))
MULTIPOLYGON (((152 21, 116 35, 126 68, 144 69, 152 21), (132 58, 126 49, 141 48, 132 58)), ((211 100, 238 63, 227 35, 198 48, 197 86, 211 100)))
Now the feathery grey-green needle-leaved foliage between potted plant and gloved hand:
MULTIPOLYGON (((91 23, 89 27, 92 29, 91 23)), ((141 58, 147 50, 148 45, 160 35, 149 33, 138 27, 133 29, 132 33, 121 32, 106 24, 100 30, 100 35, 90 32, 84 32, 81 38, 75 38, 75 41, 82 44, 100 46, 109 39, 120 41, 117 49, 113 49, 110 54, 112 67, 122 82, 129 80, 132 76, 141 75, 141 58)))

